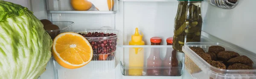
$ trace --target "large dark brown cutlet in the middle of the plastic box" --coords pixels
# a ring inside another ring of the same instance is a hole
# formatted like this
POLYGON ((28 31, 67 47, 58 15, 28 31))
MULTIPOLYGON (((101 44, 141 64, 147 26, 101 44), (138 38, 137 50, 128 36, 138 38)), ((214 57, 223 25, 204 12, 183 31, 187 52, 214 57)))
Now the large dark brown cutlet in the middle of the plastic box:
POLYGON ((240 56, 240 55, 234 51, 221 51, 217 54, 218 59, 223 61, 224 63, 226 63, 227 60, 237 56, 240 56))

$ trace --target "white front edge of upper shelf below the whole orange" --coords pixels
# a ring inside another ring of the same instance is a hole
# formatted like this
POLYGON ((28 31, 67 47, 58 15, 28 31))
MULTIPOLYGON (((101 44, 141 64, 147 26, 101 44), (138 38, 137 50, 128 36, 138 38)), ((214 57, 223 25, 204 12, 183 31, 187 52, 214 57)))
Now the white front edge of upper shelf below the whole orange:
POLYGON ((115 14, 116 11, 47 11, 48 14, 115 14))

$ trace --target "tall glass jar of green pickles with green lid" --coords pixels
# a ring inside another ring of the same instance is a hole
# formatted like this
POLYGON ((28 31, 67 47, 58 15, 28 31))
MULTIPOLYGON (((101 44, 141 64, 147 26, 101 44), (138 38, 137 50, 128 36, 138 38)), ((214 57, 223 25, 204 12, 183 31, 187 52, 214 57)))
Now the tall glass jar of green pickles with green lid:
POLYGON ((200 42, 202 29, 201 1, 178 0, 174 23, 173 49, 182 52, 185 42, 200 42))

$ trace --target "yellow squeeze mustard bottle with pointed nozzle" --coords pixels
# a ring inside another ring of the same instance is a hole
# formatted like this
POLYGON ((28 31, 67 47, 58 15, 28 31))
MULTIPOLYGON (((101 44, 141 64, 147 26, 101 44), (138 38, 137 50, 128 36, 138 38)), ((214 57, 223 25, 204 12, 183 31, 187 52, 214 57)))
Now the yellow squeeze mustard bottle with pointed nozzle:
MULTIPOLYGON (((129 45, 145 45, 142 40, 143 34, 139 34, 138 28, 135 30, 135 34, 131 36, 129 45)), ((144 65, 144 49, 143 48, 129 48, 129 75, 130 76, 141 76, 144 65), (140 69, 131 69, 134 67, 141 67, 140 69)))

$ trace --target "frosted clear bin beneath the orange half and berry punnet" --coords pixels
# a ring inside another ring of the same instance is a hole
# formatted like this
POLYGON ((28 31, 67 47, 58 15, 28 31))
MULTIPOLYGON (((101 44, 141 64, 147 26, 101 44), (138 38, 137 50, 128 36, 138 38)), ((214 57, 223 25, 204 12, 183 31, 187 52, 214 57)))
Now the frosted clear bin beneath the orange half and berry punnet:
POLYGON ((108 61, 90 61, 87 65, 76 69, 62 67, 53 57, 49 64, 53 67, 54 79, 114 79, 116 59, 115 57, 112 58, 108 61))

